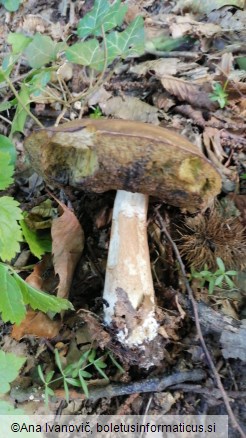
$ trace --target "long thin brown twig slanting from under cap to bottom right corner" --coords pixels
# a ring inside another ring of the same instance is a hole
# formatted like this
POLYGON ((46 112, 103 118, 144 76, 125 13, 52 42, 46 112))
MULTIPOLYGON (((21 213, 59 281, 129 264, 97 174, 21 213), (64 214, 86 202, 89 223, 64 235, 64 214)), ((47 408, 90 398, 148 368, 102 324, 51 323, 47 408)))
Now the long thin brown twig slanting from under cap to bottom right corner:
POLYGON ((180 256, 178 247, 177 247, 176 243, 173 241, 173 239, 171 238, 171 236, 170 236, 170 234, 169 234, 169 232, 168 232, 168 230, 166 228, 166 225, 164 223, 164 220, 161 217, 161 215, 160 215, 160 213, 159 213, 157 208, 155 209, 155 213, 156 213, 156 217, 157 217, 157 220, 159 222, 159 225, 160 225, 161 232, 166 235, 167 239, 171 243, 171 245, 173 247, 173 250, 174 250, 174 253, 175 253, 175 255, 177 257, 177 260, 179 262, 180 269, 181 269, 182 275, 184 277, 185 287, 186 287, 186 289, 188 291, 189 299, 191 301, 192 308, 193 308, 197 334, 198 334, 200 343, 202 345, 203 351, 204 351, 204 353, 206 355, 208 364, 209 364, 209 366, 210 366, 210 368, 211 368, 211 370, 213 372, 213 375, 215 377, 217 386, 218 386, 218 388, 221 391, 221 395, 222 395, 223 401, 225 403, 227 413, 228 413, 228 415, 230 417, 230 420, 232 422, 233 427, 238 430, 238 432, 240 433, 242 438, 246 438, 246 435, 245 435, 244 431, 242 430, 240 424, 238 423, 238 421, 237 421, 237 419, 236 419, 236 417, 234 415, 234 412, 232 411, 232 408, 231 408, 231 405, 230 405, 230 402, 229 402, 229 398, 228 398, 228 396, 226 394, 226 391, 224 389, 224 386, 222 384, 220 375, 219 375, 219 373, 218 373, 218 371, 216 369, 216 366, 214 365, 213 359, 212 359, 212 357, 211 357, 211 355, 210 355, 210 353, 209 353, 209 351, 207 349, 207 346, 206 346, 206 343, 205 343, 205 340, 204 340, 204 337, 203 337, 203 334, 202 334, 201 324, 200 324, 200 321, 199 321, 198 306, 197 306, 196 300, 194 298, 193 291, 191 289, 190 283, 189 283, 189 281, 187 279, 187 274, 186 274, 185 266, 184 266, 182 258, 180 256))

